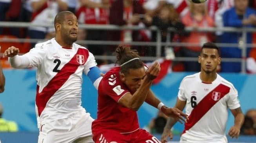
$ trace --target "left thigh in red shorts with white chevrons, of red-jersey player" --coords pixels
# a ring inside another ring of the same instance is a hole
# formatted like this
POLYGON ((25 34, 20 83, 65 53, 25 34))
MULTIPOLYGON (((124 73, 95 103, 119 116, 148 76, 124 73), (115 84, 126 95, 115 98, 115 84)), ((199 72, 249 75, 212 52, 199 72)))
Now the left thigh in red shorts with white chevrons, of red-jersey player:
POLYGON ((95 143, 129 143, 129 140, 123 134, 114 130, 99 130, 93 133, 95 143))

